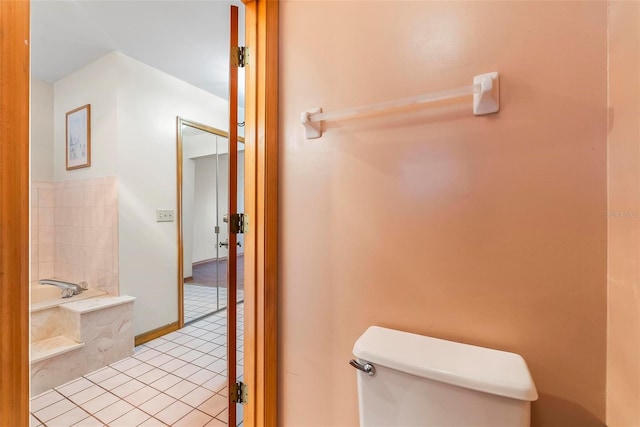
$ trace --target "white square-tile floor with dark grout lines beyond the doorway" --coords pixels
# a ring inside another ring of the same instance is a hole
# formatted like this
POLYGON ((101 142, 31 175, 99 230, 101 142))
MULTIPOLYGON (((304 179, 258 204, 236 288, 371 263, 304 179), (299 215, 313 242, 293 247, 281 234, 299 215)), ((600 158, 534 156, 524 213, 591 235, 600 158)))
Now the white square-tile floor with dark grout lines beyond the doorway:
MULTIPOLYGON (((243 326, 244 306, 238 304, 239 378, 243 326)), ((226 311, 140 345, 132 357, 31 399, 32 427, 214 427, 226 422, 226 311)))

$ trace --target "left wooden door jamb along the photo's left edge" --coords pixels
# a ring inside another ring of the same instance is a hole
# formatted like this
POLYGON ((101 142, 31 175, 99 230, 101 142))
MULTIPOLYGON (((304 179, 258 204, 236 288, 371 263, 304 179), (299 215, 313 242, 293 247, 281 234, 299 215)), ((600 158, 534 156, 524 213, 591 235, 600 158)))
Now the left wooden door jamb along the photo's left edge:
POLYGON ((29 11, 0 1, 0 425, 29 425, 29 11))

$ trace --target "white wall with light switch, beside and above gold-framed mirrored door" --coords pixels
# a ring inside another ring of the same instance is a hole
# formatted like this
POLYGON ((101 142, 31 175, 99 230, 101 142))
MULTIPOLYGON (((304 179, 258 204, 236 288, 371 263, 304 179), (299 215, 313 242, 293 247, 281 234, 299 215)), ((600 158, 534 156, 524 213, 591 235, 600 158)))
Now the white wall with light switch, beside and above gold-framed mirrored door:
POLYGON ((137 297, 136 334, 178 320, 176 116, 226 129, 227 102, 119 55, 120 287, 137 297))

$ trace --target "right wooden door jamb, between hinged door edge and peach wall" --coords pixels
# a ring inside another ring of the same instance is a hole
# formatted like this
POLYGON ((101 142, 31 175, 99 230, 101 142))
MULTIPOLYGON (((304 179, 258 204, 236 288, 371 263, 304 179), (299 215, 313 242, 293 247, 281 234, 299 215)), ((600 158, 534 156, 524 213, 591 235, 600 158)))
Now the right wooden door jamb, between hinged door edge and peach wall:
POLYGON ((245 381, 248 426, 277 425, 278 0, 245 1, 245 381))

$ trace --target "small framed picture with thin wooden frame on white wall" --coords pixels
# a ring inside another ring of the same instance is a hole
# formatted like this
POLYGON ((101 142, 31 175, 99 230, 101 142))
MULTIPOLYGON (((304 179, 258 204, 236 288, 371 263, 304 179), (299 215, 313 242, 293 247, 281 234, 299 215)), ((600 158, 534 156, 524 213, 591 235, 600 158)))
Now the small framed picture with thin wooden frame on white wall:
POLYGON ((91 104, 67 113, 67 170, 91 166, 91 104))

